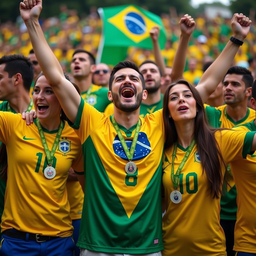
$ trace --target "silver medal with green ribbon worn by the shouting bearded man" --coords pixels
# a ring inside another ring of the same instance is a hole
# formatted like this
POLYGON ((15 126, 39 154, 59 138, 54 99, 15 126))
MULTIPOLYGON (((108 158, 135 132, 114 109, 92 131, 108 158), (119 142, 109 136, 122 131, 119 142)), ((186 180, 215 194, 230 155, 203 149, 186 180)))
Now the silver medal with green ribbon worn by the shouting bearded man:
POLYGON ((127 147, 127 145, 126 145, 124 137, 123 137, 123 135, 122 135, 122 133, 121 133, 121 131, 119 129, 119 126, 118 126, 118 124, 115 121, 114 115, 112 115, 112 123, 113 123, 113 126, 114 126, 114 128, 115 128, 115 130, 117 132, 119 140, 120 140, 120 142, 121 142, 121 144, 123 146, 124 152, 125 152, 128 160, 130 161, 129 163, 127 163, 125 165, 125 168, 124 168, 125 172, 127 174, 134 174, 136 172, 136 170, 137 170, 137 166, 136 166, 135 163, 132 162, 132 158, 133 158, 135 146, 136 146, 136 143, 137 143, 137 140, 138 140, 138 135, 139 135, 139 132, 140 132, 140 129, 141 129, 141 120, 139 119, 139 121, 137 123, 130 151, 129 151, 129 148, 127 147))

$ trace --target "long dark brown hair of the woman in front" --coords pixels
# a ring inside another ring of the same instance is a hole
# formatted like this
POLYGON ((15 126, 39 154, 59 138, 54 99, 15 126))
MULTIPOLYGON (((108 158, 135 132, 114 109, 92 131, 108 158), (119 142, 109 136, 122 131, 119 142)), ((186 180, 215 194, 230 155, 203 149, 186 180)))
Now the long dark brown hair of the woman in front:
POLYGON ((221 172, 221 162, 226 166, 225 161, 221 155, 219 145, 215 139, 215 132, 217 130, 208 125, 204 104, 202 102, 199 92, 186 80, 177 80, 171 83, 163 98, 163 119, 164 119, 164 130, 165 130, 165 149, 170 148, 178 139, 174 120, 169 118, 169 91, 177 84, 185 84, 189 90, 193 93, 196 100, 196 106, 198 112, 195 117, 195 132, 194 138, 197 144, 197 150, 200 156, 203 174, 206 173, 208 180, 208 189, 213 198, 220 198, 223 175, 221 172))

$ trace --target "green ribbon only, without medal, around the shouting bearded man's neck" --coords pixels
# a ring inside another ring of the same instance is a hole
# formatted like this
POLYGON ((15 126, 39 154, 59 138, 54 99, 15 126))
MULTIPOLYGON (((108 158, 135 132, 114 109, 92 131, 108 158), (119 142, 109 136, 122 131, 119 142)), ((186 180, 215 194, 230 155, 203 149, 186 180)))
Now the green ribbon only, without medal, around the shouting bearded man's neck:
POLYGON ((129 151, 127 145, 126 145, 124 137, 123 137, 123 135, 122 135, 122 133, 121 133, 121 131, 119 129, 119 126, 118 126, 118 124, 115 121, 114 115, 112 115, 112 123, 113 123, 113 126, 114 126, 114 128, 115 128, 115 130, 117 132, 119 140, 120 140, 120 142, 121 142, 121 144, 122 144, 122 146, 124 148, 124 152, 125 152, 127 158, 129 159, 129 161, 131 162, 132 158, 133 158, 135 146, 136 146, 136 143, 137 143, 137 140, 138 140, 138 135, 139 135, 139 132, 140 132, 140 129, 141 129, 141 120, 139 119, 139 121, 137 123, 130 151, 129 151))

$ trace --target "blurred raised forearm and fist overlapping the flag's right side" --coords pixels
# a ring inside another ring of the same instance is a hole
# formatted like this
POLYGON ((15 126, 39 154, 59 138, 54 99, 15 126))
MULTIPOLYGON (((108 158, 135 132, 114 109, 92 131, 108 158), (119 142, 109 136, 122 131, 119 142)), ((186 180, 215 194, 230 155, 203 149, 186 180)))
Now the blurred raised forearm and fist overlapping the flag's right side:
POLYGON ((157 66, 161 69, 162 71, 162 76, 165 76, 165 63, 164 63, 164 58, 161 54, 158 38, 159 38, 159 27, 153 27, 150 31, 150 37, 153 43, 153 53, 155 56, 155 61, 157 66))

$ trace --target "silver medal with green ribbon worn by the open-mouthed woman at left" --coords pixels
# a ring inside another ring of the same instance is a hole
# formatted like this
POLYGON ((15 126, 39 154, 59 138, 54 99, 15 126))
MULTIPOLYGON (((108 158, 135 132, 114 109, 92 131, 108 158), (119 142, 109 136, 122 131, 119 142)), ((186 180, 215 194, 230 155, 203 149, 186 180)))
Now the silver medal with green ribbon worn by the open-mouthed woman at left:
POLYGON ((46 139, 45 139, 44 131, 42 129, 42 126, 41 126, 40 121, 39 121, 38 118, 36 118, 36 124, 37 124, 37 129, 39 131, 43 147, 45 149, 45 155, 46 155, 47 163, 49 165, 48 167, 46 167, 44 169, 44 175, 47 179, 52 179, 56 175, 56 170, 52 166, 52 160, 54 158, 54 154, 55 154, 55 151, 56 151, 57 146, 58 146, 60 135, 61 135, 61 132, 63 130, 63 121, 60 120, 60 127, 59 127, 59 130, 58 130, 57 134, 56 134, 56 138, 54 140, 54 143, 52 145, 51 152, 49 151, 49 148, 48 148, 48 145, 47 145, 47 142, 46 142, 46 139))

